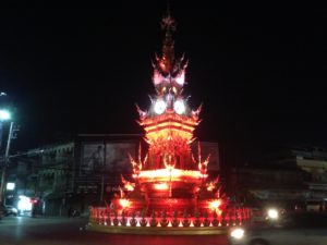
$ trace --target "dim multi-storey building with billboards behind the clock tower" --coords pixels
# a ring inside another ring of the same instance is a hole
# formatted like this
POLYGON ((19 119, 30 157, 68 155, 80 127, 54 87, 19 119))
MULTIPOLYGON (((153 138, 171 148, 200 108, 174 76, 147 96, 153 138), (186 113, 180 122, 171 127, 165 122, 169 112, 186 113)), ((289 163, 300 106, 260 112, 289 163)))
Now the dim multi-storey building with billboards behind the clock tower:
MULTIPOLYGON (((87 212, 88 206, 110 204, 119 193, 121 176, 129 177, 129 155, 136 156, 143 135, 80 134, 74 139, 48 144, 12 155, 7 182, 7 203, 17 206, 20 196, 35 200, 37 215, 68 216, 87 212)), ((194 145, 197 143, 194 143, 194 145)), ((210 173, 219 171, 217 143, 203 142, 204 155, 211 152, 210 173)))

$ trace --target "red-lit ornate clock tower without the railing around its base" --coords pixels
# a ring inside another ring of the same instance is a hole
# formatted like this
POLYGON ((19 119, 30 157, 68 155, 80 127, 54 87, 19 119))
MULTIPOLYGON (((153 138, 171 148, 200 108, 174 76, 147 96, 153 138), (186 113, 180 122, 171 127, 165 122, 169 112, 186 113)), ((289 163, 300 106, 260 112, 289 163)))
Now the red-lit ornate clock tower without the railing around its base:
POLYGON ((148 110, 137 107, 148 152, 140 148, 137 159, 130 157, 134 180, 123 179, 121 196, 112 204, 125 211, 219 211, 225 201, 218 180, 207 182, 209 156, 202 159, 199 145, 196 157, 191 150, 201 107, 192 110, 183 95, 187 61, 174 56, 175 23, 170 14, 162 19, 161 28, 162 52, 153 62, 156 94, 148 110))

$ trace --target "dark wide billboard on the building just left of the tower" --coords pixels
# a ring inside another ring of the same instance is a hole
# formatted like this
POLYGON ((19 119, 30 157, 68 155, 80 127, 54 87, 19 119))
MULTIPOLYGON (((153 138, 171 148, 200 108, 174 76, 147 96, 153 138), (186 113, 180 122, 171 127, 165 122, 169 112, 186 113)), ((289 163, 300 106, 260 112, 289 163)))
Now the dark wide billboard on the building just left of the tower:
POLYGON ((136 144, 125 143, 82 143, 81 175, 99 175, 104 172, 130 172, 128 154, 135 156, 136 144))

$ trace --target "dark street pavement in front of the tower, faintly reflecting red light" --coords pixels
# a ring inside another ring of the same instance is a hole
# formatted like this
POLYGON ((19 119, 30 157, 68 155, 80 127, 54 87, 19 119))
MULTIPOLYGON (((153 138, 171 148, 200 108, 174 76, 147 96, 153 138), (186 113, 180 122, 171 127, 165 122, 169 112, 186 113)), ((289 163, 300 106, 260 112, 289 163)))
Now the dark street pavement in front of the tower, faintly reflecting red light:
POLYGON ((0 245, 226 245, 225 235, 146 236, 85 231, 85 218, 4 217, 0 245))

